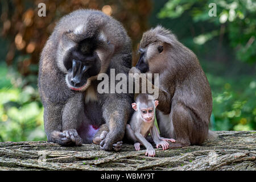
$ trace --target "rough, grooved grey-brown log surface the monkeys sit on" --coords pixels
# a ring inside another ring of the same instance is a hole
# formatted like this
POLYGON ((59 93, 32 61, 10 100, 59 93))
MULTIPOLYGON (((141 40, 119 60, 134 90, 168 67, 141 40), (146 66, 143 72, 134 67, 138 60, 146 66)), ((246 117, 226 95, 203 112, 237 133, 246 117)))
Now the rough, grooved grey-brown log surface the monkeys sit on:
POLYGON ((201 146, 156 149, 154 158, 130 144, 121 152, 106 152, 95 144, 3 142, 0 170, 256 170, 256 131, 216 133, 216 140, 201 146))

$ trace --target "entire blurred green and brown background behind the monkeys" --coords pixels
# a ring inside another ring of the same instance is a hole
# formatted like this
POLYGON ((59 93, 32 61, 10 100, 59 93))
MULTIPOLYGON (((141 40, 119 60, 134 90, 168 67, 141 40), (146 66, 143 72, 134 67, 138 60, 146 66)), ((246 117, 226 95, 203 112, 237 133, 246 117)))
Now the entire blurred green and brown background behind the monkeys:
POLYGON ((98 9, 123 23, 133 40, 133 65, 144 31, 170 28, 199 57, 213 95, 212 130, 256 129, 256 2, 7 1, 0 2, 0 142, 46 140, 37 88, 40 51, 61 16, 98 9), (38 4, 46 3, 46 17, 38 4), (216 16, 209 16, 216 5, 216 16))

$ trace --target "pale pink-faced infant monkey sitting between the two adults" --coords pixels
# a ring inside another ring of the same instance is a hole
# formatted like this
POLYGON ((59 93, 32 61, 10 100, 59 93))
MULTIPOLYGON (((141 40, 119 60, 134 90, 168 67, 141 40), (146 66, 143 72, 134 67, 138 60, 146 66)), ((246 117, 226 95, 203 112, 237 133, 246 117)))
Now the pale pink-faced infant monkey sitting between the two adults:
POLYGON ((126 136, 134 142, 135 150, 141 150, 141 144, 147 148, 146 155, 154 157, 155 150, 152 145, 146 140, 148 133, 156 144, 156 148, 162 146, 163 150, 168 149, 170 142, 175 142, 175 139, 160 137, 155 121, 155 108, 158 106, 158 101, 150 100, 150 95, 139 94, 136 98, 137 103, 131 104, 136 111, 131 117, 130 125, 126 125, 126 136))

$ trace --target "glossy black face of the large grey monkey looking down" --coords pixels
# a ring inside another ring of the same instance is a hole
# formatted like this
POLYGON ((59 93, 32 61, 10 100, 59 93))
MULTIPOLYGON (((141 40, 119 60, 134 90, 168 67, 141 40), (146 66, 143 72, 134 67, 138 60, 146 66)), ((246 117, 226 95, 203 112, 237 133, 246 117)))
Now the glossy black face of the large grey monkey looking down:
POLYGON ((64 60, 64 66, 68 70, 66 82, 70 89, 84 90, 86 84, 89 84, 88 79, 100 73, 101 61, 95 49, 95 43, 83 40, 79 47, 71 49, 64 60))

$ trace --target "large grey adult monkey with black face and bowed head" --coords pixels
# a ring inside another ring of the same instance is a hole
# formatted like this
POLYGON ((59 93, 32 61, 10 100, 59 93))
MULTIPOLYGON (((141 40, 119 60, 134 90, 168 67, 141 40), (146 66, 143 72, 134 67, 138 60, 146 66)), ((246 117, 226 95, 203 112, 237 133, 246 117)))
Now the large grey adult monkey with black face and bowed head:
POLYGON ((109 132, 101 148, 119 150, 133 94, 99 94, 97 76, 109 75, 110 69, 127 74, 130 68, 130 38, 117 20, 96 10, 77 10, 61 18, 39 66, 48 141, 64 146, 92 143, 104 126, 109 132))

